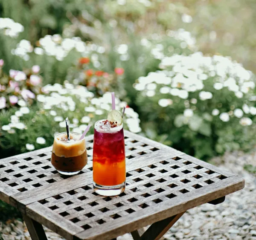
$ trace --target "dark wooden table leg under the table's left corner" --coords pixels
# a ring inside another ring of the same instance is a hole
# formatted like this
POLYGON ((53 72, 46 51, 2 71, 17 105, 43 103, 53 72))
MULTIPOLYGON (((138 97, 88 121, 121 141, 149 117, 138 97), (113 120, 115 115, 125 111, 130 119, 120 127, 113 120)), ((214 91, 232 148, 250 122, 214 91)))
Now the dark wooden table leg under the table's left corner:
POLYGON ((47 240, 44 232, 43 226, 37 221, 31 219, 30 217, 22 214, 23 220, 26 223, 26 227, 29 230, 29 234, 32 240, 47 240))

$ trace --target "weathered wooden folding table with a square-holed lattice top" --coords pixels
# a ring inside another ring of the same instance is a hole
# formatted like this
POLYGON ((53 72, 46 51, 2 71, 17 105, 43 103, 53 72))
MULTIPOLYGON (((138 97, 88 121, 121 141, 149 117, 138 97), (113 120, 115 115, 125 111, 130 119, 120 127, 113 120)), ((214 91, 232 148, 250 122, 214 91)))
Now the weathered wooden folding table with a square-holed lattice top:
POLYGON ((88 164, 72 177, 52 167, 52 147, 0 160, 0 199, 22 212, 32 240, 47 239, 42 225, 68 240, 127 232, 134 240, 160 239, 186 210, 244 188, 240 176, 125 131, 125 192, 100 196, 92 184, 93 135, 86 140, 88 164))

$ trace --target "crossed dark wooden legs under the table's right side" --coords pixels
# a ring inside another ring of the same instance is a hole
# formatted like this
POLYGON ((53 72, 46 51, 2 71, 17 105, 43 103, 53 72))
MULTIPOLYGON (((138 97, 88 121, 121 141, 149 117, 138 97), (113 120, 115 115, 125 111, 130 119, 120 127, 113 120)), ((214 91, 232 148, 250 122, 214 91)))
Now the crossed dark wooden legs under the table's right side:
POLYGON ((153 223, 143 234, 141 234, 142 231, 139 229, 131 232, 131 235, 134 240, 159 240, 169 230, 169 228, 171 228, 177 222, 177 220, 180 219, 184 213, 185 212, 153 223))

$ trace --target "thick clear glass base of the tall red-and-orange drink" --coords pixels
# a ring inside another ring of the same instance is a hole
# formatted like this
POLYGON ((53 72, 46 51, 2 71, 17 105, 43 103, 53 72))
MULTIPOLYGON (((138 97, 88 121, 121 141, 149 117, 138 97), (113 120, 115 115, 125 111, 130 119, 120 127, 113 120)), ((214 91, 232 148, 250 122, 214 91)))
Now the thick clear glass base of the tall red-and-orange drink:
POLYGON ((102 196, 116 196, 125 191, 125 182, 115 186, 102 186, 93 182, 94 191, 102 196))

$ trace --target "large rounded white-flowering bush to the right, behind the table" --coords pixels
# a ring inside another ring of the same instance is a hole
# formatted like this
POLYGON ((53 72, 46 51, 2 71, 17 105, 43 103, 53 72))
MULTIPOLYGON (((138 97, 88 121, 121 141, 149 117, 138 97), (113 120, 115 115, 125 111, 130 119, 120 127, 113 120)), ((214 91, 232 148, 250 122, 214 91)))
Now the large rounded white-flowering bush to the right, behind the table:
POLYGON ((229 58, 199 52, 164 57, 160 68, 134 86, 148 136, 165 134, 164 141, 201 159, 255 146, 251 72, 229 58))

